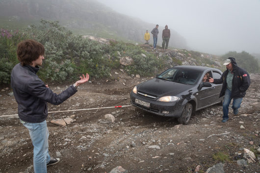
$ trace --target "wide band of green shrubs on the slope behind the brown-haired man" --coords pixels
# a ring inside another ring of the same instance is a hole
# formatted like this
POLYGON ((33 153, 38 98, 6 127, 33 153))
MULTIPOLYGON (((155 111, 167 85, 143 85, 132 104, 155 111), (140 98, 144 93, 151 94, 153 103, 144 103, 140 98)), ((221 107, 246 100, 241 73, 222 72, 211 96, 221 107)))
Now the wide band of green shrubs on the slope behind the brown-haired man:
POLYGON ((78 75, 86 73, 95 78, 109 77, 110 71, 118 68, 125 69, 128 74, 149 76, 168 68, 167 61, 171 59, 168 56, 156 57, 130 43, 110 41, 109 45, 101 44, 73 35, 71 31, 61 27, 58 21, 42 20, 40 25, 32 25, 23 32, 4 32, 1 35, 1 83, 10 82, 11 70, 19 62, 16 58, 17 44, 25 39, 34 39, 45 47, 45 60, 38 76, 46 82, 70 82, 78 79, 78 75), (124 56, 130 56, 134 63, 122 67, 120 58, 124 56))

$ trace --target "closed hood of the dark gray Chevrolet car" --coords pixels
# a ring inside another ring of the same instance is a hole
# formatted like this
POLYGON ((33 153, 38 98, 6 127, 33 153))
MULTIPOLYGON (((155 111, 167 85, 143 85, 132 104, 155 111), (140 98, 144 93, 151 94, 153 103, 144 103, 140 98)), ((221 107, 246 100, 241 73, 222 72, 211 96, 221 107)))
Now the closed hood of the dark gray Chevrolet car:
POLYGON ((186 85, 173 81, 153 78, 137 85, 137 91, 144 92, 158 97, 177 96, 185 90, 189 90, 194 85, 186 85))

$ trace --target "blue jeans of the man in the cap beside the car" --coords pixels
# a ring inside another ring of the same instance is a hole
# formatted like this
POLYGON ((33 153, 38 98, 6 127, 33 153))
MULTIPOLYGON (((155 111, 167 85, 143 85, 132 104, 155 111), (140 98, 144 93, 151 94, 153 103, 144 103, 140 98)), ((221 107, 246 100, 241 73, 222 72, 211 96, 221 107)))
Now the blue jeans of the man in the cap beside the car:
MULTIPOLYGON (((238 114, 238 108, 240 107, 240 104, 242 102, 243 98, 236 98, 233 99, 232 109, 234 110, 234 114, 238 114)), ((223 101, 223 119, 229 118, 229 104, 231 102, 231 91, 229 89, 226 89, 224 101, 223 101)))

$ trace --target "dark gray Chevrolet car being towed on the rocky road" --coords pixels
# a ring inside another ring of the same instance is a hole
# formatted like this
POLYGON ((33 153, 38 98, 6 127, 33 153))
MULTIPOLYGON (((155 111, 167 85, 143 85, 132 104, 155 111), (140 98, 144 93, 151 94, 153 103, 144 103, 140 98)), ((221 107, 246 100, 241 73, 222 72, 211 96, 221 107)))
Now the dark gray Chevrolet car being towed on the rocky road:
POLYGON ((222 84, 202 82, 206 73, 220 78, 222 72, 202 66, 177 66, 135 86, 130 94, 132 105, 165 117, 176 117, 187 124, 197 110, 222 102, 222 84))

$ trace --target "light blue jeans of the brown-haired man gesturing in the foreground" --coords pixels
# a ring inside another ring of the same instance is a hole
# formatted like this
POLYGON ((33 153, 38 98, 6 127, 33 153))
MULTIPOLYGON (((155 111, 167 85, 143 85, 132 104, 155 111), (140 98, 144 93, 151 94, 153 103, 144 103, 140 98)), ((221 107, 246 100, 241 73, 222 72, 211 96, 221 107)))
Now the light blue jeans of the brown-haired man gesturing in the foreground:
POLYGON ((49 154, 49 131, 46 121, 41 123, 23 122, 29 130, 33 145, 33 169, 34 173, 47 173, 47 163, 50 162, 49 154))

